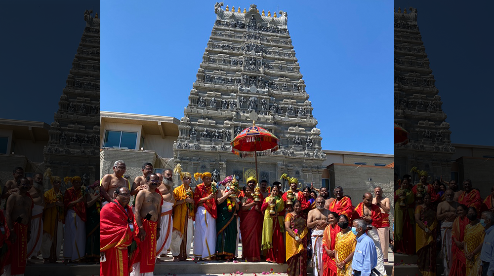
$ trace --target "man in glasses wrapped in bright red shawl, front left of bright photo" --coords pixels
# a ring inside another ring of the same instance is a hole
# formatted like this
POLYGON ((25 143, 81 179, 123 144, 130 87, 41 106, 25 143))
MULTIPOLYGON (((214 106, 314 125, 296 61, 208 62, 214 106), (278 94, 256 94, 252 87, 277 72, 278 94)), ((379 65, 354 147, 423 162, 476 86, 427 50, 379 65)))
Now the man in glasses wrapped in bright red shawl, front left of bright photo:
POLYGON ((128 206, 130 191, 127 187, 115 190, 115 198, 101 208, 99 250, 100 276, 128 276, 129 264, 127 247, 135 236, 134 214, 128 206))

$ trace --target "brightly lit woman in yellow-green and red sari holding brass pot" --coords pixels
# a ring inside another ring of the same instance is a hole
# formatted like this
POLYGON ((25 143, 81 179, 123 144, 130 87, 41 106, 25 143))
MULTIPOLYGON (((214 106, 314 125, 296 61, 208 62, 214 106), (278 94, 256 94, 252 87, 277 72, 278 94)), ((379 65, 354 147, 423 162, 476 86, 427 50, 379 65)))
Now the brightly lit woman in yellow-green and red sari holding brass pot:
POLYGON ((268 250, 267 262, 283 264, 286 258, 285 242, 283 241, 285 203, 279 192, 279 186, 274 184, 271 187, 271 195, 264 199, 261 207, 261 212, 264 212, 261 250, 268 250), (274 207, 271 207, 270 204, 274 204, 274 207), (270 210, 274 210, 274 213, 270 214, 270 210))

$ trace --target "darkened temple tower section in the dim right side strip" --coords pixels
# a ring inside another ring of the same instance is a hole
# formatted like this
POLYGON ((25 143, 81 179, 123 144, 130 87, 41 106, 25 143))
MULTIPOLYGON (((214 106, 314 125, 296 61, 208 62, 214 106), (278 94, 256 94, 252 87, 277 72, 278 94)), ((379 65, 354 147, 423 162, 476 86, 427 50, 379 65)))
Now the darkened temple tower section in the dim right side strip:
POLYGON ((441 108, 443 102, 434 84, 422 36, 417 9, 395 12, 395 123, 410 133, 410 142, 395 145, 395 168, 400 176, 412 167, 434 178, 450 178, 450 124, 441 108))

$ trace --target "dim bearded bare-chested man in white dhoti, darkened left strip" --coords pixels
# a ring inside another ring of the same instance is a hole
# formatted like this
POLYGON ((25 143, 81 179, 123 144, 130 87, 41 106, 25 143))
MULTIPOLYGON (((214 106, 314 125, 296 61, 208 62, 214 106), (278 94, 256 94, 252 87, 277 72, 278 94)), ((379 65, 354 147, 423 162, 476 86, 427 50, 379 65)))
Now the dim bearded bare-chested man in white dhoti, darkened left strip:
POLYGON ((43 174, 36 173, 33 180, 33 187, 29 190, 29 194, 33 198, 34 207, 31 216, 31 240, 28 242, 28 259, 37 259, 36 255, 38 255, 38 252, 41 249, 41 237, 43 230, 43 221, 41 219, 44 209, 43 174))

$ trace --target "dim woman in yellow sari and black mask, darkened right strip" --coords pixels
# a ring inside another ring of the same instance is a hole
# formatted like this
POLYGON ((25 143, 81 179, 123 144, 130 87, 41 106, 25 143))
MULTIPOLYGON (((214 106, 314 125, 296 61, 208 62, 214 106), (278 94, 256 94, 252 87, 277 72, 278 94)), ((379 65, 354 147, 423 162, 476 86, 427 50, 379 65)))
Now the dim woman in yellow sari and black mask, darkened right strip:
POLYGON ((465 242, 463 243, 466 258, 466 275, 480 276, 481 274, 478 273, 478 268, 482 263, 480 260, 480 250, 482 249, 482 242, 484 241, 486 231, 484 226, 479 223, 477 210, 474 207, 468 208, 466 217, 470 221, 465 227, 465 242))

